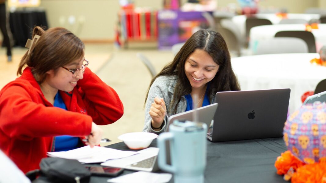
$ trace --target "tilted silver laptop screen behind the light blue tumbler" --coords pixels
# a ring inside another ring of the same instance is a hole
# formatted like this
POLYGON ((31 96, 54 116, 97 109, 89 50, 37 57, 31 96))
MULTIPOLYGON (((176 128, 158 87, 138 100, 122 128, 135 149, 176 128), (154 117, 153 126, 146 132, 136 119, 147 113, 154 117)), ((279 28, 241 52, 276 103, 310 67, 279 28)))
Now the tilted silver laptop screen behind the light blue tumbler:
MULTIPOLYGON (((197 108, 196 112, 198 115, 198 121, 206 123, 207 128, 209 128, 209 126, 211 125, 211 122, 213 120, 216 108, 217 108, 217 103, 197 108)), ((169 126, 170 126, 170 124, 173 123, 174 120, 193 121, 194 112, 195 112, 195 110, 193 109, 193 110, 185 111, 185 112, 170 116, 166 131, 167 132, 169 131, 169 126)))

